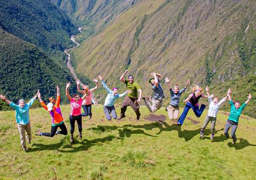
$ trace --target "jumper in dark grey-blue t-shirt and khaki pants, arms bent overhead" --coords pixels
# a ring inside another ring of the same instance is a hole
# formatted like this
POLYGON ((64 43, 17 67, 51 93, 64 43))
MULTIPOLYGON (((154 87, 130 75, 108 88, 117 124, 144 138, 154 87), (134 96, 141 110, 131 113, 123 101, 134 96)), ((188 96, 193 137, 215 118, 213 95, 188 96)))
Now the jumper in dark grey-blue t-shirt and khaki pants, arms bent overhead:
POLYGON ((159 83, 162 77, 161 74, 151 73, 151 75, 154 77, 149 80, 154 91, 153 97, 142 97, 142 99, 145 101, 147 109, 149 109, 151 113, 155 113, 156 110, 163 106, 164 91, 159 83))

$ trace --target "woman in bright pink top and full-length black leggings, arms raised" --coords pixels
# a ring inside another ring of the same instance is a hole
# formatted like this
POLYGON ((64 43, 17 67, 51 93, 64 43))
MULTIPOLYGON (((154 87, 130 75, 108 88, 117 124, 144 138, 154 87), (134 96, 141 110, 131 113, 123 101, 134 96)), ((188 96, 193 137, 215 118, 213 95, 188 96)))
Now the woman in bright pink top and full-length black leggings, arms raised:
POLYGON ((73 95, 73 98, 69 95, 69 86, 70 82, 66 83, 66 96, 68 97, 71 104, 71 112, 69 115, 70 122, 70 142, 74 141, 74 131, 75 131, 75 121, 78 124, 79 138, 82 140, 82 115, 81 115, 81 107, 84 98, 86 98, 87 93, 83 95, 82 98, 78 94, 73 95))

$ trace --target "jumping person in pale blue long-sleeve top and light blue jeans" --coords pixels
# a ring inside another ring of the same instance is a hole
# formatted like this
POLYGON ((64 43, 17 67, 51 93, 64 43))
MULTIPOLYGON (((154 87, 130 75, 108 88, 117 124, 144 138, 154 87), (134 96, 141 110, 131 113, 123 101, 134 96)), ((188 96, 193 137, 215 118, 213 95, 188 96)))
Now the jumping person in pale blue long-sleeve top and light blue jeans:
POLYGON ((131 90, 127 90, 123 94, 119 95, 118 94, 118 88, 113 88, 112 91, 111 91, 106 86, 106 83, 104 82, 104 80, 101 77, 101 75, 98 75, 98 78, 101 80, 102 86, 107 90, 107 97, 105 99, 104 108, 103 108, 104 109, 104 113, 106 115, 106 119, 107 120, 111 120, 111 115, 112 115, 113 119, 116 119, 117 116, 116 116, 115 106, 114 106, 116 98, 123 97, 127 93, 131 93, 132 91, 131 90))

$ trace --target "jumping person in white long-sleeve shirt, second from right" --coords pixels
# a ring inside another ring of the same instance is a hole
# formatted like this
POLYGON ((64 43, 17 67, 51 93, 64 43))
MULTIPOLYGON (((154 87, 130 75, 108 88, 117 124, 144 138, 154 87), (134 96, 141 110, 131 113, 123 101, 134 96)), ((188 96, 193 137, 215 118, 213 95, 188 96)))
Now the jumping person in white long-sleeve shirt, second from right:
POLYGON ((216 123, 216 118, 217 118, 217 113, 218 113, 218 110, 219 110, 219 106, 221 106, 221 104, 224 101, 226 101, 227 96, 222 98, 222 100, 218 102, 218 100, 219 100, 218 97, 216 97, 214 95, 210 95, 209 87, 208 86, 206 87, 205 90, 206 90, 206 93, 207 93, 207 96, 208 96, 208 100, 209 100, 209 110, 208 110, 208 113, 207 113, 207 115, 205 117, 204 124, 203 124, 203 126, 201 128, 200 137, 201 138, 204 137, 204 129, 206 128, 208 123, 211 122, 212 125, 210 127, 210 132, 211 132, 210 140, 213 140, 214 130, 215 130, 215 123, 216 123))

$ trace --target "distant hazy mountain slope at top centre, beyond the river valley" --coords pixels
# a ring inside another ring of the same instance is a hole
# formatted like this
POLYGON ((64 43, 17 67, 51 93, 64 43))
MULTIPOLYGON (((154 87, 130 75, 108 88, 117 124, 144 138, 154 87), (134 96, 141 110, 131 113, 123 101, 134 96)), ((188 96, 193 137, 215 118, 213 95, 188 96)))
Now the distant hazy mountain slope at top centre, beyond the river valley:
POLYGON ((95 23, 96 31, 141 0, 51 0, 71 19, 95 23))

